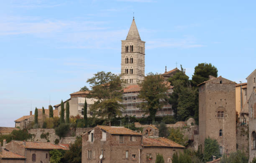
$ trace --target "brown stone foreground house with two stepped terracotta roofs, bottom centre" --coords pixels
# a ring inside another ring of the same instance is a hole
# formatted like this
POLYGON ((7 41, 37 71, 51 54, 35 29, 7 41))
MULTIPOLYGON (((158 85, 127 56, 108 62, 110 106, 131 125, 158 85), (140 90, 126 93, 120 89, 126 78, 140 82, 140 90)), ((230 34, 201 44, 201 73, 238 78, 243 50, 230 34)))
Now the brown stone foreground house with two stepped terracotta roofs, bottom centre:
POLYGON ((183 150, 166 138, 145 138, 125 127, 97 126, 82 135, 82 163, 155 162, 156 153, 171 163, 173 153, 183 150))

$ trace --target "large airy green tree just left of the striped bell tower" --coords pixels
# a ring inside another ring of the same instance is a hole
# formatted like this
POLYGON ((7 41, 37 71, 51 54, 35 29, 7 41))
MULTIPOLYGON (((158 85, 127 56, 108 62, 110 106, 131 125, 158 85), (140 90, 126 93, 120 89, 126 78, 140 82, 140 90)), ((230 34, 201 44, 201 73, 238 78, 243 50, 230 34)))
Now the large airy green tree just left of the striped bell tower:
POLYGON ((97 99, 90 110, 93 116, 101 117, 111 123, 114 117, 121 115, 122 86, 120 76, 111 72, 97 72, 87 80, 92 87, 91 97, 97 99))

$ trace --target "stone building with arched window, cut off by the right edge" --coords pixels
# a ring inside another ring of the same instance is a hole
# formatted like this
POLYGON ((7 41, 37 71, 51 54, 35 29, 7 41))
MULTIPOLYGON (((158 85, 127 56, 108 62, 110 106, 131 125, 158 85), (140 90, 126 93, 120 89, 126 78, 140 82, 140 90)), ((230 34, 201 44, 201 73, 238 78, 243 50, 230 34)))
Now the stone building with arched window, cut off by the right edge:
POLYGON ((248 100, 249 109, 249 162, 256 158, 256 89, 248 100))

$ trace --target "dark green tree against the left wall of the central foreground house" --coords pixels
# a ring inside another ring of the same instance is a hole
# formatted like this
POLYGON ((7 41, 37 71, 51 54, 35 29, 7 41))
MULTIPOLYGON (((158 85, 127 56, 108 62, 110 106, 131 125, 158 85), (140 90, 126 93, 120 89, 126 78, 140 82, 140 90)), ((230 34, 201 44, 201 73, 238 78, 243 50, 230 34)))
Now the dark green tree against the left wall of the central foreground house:
POLYGON ((64 160, 68 163, 81 163, 82 161, 82 138, 78 137, 74 144, 64 154, 64 160))

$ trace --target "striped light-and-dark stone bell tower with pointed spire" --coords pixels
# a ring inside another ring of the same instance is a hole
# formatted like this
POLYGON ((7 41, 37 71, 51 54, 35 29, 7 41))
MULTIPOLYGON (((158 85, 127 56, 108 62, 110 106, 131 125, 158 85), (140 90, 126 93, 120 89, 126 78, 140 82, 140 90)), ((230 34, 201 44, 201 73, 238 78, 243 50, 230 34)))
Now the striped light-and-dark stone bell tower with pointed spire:
POLYGON ((138 84, 145 76, 145 41, 141 41, 133 17, 126 40, 122 40, 121 74, 128 84, 138 84))

